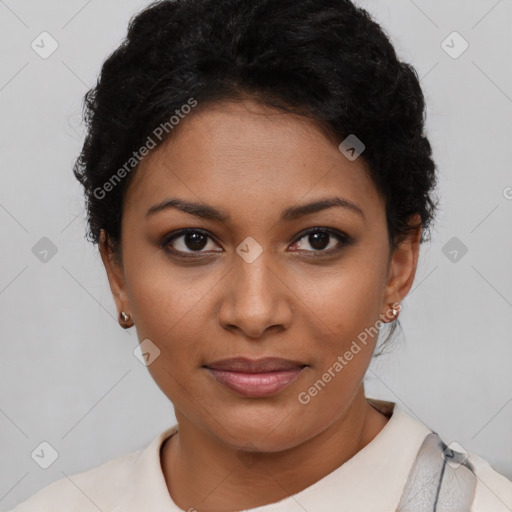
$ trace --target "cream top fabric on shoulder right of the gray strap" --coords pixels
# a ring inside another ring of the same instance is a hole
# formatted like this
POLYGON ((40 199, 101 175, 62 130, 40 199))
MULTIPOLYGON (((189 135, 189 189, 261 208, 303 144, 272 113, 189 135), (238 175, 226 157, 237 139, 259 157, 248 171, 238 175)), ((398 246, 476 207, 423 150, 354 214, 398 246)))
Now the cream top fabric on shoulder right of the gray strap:
POLYGON ((512 481, 474 453, 469 454, 468 460, 476 475, 471 512, 512 511, 512 481))

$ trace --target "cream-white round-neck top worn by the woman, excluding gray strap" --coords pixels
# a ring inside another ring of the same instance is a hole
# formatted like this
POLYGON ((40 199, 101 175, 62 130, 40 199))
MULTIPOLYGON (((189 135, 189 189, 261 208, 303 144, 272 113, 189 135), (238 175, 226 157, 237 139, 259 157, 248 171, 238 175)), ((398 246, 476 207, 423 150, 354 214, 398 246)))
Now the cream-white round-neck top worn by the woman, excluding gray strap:
MULTIPOLYGON (((418 450, 432 431, 395 402, 368 401, 391 414, 369 444, 301 492, 251 512, 395 512, 418 450)), ((52 482, 11 512, 183 512, 169 495, 160 463, 160 447, 177 428, 160 432, 145 448, 71 475, 71 481, 52 482)), ((512 482, 477 455, 470 453, 468 460, 477 477, 471 512, 511 512, 512 482)))

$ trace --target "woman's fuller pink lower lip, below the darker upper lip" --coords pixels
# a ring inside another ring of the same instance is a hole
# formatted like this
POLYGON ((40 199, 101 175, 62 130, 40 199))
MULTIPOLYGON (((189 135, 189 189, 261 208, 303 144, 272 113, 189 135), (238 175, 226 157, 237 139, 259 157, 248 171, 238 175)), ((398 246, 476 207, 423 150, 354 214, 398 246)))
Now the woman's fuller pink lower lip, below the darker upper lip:
POLYGON ((278 393, 295 381, 304 368, 267 373, 242 373, 207 368, 213 377, 240 395, 256 398, 278 393))

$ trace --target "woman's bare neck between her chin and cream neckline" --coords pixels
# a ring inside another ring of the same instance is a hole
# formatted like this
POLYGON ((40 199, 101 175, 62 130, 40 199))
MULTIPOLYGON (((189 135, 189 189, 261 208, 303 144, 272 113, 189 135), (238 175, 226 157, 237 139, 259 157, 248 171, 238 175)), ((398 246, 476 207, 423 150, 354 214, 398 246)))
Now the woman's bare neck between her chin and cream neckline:
POLYGON ((179 431, 162 446, 162 470, 173 501, 183 510, 201 512, 234 512, 296 494, 353 457, 388 421, 367 402, 363 385, 334 423, 284 451, 242 451, 198 429, 178 411, 176 417, 179 431))

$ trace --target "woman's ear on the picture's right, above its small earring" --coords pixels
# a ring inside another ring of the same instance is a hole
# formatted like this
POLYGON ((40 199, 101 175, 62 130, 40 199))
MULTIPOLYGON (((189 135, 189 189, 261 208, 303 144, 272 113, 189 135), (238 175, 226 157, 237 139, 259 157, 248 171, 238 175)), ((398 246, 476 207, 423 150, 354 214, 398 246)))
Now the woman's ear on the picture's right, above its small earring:
POLYGON ((383 315, 389 314, 390 303, 400 303, 405 298, 416 275, 422 232, 419 214, 415 214, 411 222, 418 227, 399 243, 391 255, 383 315))

